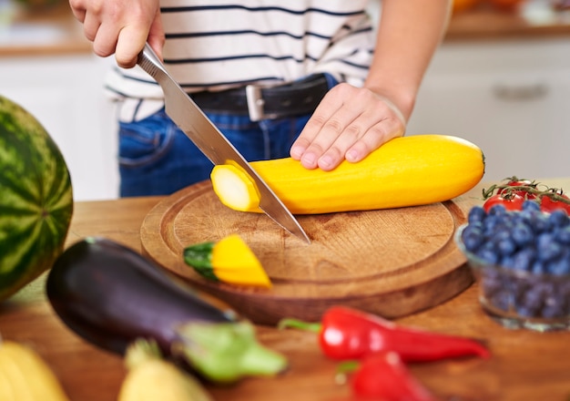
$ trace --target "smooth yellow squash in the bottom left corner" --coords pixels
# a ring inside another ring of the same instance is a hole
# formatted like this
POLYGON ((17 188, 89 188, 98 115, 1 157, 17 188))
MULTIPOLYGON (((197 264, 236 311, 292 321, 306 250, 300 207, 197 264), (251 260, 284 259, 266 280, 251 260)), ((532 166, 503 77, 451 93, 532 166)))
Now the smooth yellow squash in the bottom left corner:
POLYGON ((32 348, 0 341, 0 400, 68 401, 56 375, 32 348))

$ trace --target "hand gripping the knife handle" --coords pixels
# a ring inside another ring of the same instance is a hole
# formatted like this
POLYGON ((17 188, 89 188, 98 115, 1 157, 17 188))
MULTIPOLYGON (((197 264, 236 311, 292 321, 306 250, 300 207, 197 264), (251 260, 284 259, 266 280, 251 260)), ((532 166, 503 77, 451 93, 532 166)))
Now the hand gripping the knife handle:
POLYGON ((165 36, 158 0, 69 0, 97 56, 115 54, 119 67, 137 64, 145 43, 162 58, 165 36))

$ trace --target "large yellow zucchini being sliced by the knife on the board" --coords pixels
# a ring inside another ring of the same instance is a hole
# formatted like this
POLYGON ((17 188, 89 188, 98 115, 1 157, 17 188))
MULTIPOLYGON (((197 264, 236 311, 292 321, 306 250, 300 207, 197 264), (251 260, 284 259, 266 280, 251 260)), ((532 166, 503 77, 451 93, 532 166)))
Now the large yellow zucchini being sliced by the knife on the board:
MULTIPOLYGON (((358 163, 332 171, 307 170, 299 161, 253 161, 251 167, 294 214, 369 211, 451 200, 471 190, 484 173, 483 151, 446 135, 392 139, 358 163)), ((233 164, 211 172, 219 200, 236 211, 260 212, 249 175, 233 164)))

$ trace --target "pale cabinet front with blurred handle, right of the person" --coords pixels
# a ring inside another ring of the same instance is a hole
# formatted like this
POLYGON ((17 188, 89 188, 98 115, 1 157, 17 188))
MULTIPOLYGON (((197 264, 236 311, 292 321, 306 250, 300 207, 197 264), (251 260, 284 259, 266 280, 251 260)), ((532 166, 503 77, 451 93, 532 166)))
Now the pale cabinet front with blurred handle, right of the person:
POLYGON ((483 180, 570 173, 570 40, 444 43, 409 134, 440 133, 483 149, 483 180))

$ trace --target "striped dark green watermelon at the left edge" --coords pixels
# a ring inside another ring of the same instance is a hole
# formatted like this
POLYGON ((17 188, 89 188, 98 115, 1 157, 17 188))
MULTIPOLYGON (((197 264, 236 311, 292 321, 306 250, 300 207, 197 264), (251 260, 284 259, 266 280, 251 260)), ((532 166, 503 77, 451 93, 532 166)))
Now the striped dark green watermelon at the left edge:
POLYGON ((0 301, 51 268, 72 214, 71 178, 56 142, 0 96, 0 301))

